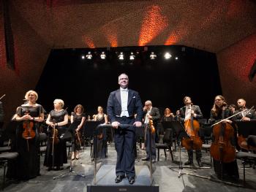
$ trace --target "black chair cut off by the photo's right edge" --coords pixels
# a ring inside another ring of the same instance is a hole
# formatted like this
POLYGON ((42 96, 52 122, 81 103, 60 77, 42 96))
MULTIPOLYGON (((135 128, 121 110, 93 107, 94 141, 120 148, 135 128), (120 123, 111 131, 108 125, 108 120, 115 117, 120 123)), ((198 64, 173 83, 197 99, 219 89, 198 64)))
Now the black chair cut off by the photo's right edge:
POLYGON ((249 135, 247 137, 247 145, 249 147, 249 152, 240 152, 238 151, 236 153, 236 158, 240 159, 242 161, 243 169, 244 169, 244 185, 245 185, 245 165, 246 164, 253 164, 253 169, 255 169, 256 164, 256 136, 255 135, 249 135))

